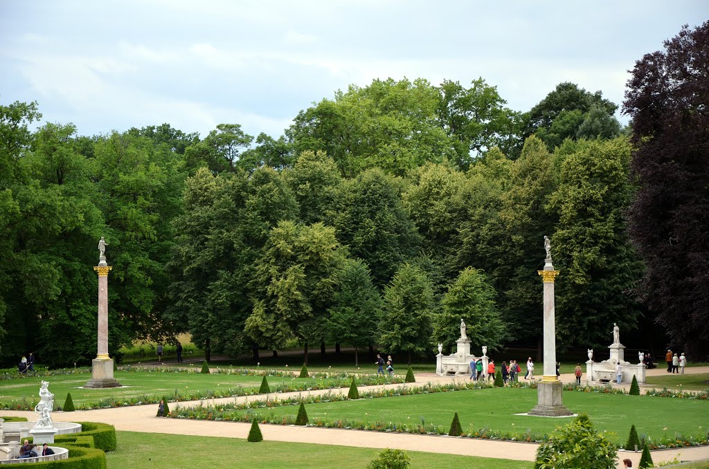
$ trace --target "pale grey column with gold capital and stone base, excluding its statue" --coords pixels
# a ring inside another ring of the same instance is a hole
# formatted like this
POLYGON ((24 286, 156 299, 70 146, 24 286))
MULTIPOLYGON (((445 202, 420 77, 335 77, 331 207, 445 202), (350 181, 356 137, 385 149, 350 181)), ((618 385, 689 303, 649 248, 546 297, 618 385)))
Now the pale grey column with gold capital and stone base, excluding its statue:
POLYGON ((547 254, 544 270, 537 271, 544 282, 544 375, 537 384, 537 407, 529 414, 539 417, 564 417, 571 415, 562 400, 562 382, 557 378, 557 336, 554 323, 554 270, 551 256, 547 254))

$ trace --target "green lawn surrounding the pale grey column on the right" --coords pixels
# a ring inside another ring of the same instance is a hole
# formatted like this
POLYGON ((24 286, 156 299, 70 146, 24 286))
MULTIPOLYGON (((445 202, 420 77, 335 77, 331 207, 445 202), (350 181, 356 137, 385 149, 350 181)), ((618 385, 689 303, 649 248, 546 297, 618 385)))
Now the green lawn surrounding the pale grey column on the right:
MULTIPOLYGON (((709 401, 668 397, 609 395, 596 392, 564 391, 564 405, 572 412, 586 412, 598 430, 615 432, 616 442, 625 441, 630 425, 640 435, 652 439, 705 434, 709 401), (703 429, 702 429, 703 427, 703 429)), ((458 412, 464 432, 489 427, 498 431, 545 434, 570 419, 548 419, 515 415, 528 412, 537 403, 537 391, 519 388, 493 388, 440 392, 401 397, 324 402, 306 405, 311 423, 315 419, 389 424, 425 424, 448 426, 458 412)), ((295 415, 296 406, 251 409, 275 416, 295 415)))

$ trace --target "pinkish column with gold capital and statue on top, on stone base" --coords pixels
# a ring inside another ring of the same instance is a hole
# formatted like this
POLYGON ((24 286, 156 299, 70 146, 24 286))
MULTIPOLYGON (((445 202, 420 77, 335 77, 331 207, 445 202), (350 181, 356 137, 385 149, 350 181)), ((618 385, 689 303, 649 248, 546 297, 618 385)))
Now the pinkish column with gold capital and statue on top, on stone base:
POLYGON ((98 353, 91 361, 91 380, 84 388, 120 388, 121 383, 113 378, 113 360, 108 356, 108 272, 113 267, 106 264, 106 240, 99 241, 99 265, 94 271, 99 274, 99 330, 98 353))

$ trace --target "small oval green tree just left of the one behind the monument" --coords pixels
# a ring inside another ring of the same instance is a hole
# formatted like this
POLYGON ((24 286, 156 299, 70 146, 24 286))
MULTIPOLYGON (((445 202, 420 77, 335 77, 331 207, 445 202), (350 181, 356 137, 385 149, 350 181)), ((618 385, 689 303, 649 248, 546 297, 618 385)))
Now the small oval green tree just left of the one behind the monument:
POLYGON ((379 346, 390 354, 423 354, 430 346, 433 288, 420 269, 403 264, 384 290, 379 346))

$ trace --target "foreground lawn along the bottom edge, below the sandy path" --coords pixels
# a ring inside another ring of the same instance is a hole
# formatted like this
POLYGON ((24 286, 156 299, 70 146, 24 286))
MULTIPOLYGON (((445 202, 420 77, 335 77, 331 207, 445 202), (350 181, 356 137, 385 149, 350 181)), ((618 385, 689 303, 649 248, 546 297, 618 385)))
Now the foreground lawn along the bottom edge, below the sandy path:
MULTIPOLYGON (((116 431, 108 468, 364 468, 381 451, 350 446, 116 431)), ((532 463, 406 451, 411 468, 529 469, 532 463)))

